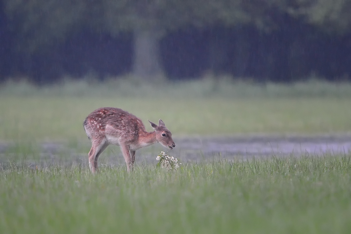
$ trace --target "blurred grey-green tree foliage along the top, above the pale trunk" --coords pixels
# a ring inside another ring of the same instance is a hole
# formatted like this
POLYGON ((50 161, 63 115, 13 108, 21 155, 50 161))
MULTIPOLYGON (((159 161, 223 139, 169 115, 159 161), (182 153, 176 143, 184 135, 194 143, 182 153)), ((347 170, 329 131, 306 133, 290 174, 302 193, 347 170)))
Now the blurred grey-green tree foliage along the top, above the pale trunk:
MULTIPOLYGON (((193 25, 274 25, 273 11, 286 12, 327 31, 350 32, 351 0, 4 0, 10 28, 28 51, 64 40, 81 27, 118 35, 152 28, 193 25)), ((21 47, 22 48, 22 47, 21 47)))

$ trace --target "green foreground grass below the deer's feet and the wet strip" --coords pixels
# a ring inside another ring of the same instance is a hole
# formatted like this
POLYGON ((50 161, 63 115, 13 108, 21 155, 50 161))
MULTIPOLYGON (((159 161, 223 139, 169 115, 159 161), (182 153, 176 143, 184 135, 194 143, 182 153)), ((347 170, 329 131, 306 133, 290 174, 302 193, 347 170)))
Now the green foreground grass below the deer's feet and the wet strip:
POLYGON ((176 172, 2 165, 2 233, 350 233, 351 155, 176 172))

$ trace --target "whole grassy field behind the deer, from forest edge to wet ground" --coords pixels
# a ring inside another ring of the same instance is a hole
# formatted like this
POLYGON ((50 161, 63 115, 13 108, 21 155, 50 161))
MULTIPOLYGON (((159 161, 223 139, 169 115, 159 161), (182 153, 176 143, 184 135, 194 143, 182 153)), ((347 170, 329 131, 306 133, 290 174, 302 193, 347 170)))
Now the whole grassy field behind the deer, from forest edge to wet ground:
MULTIPOLYGON (((125 109, 144 122, 163 119, 175 136, 351 132, 348 83, 258 86, 206 81, 154 91, 148 86, 95 88, 71 83, 0 89, 0 141, 85 140, 82 122, 104 106, 125 109)), ((147 129, 152 130, 148 125, 147 129)))

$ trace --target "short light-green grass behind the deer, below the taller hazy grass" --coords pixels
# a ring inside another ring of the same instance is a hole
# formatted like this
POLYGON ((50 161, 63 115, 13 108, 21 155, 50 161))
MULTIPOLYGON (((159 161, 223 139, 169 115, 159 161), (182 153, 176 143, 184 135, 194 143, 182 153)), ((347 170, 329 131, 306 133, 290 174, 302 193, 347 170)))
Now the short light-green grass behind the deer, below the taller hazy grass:
MULTIPOLYGON (((247 86, 246 89, 250 89, 250 85, 247 86)), ((235 85, 227 88, 234 93, 237 90, 235 85)), ((250 92, 258 88, 251 86, 250 92)), ((109 92, 106 96, 104 92, 61 95, 64 87, 53 88, 51 95, 46 94, 45 88, 30 95, 16 92, 11 95, 5 91, 1 95, 0 92, 0 141, 86 140, 82 122, 90 112, 106 106, 125 109, 144 123, 147 119, 154 122, 162 119, 174 136, 351 132, 351 95, 340 97, 330 91, 324 96, 288 93, 274 97, 272 91, 268 92, 272 96, 240 98, 214 92, 213 96, 186 98, 181 94, 167 95, 170 90, 155 91, 145 98, 109 92)))

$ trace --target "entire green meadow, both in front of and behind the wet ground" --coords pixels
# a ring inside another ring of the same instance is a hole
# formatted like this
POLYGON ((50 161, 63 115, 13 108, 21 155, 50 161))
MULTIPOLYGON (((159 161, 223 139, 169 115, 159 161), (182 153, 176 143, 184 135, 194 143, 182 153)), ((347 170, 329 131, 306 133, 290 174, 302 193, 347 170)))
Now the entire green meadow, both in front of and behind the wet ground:
POLYGON ((351 152, 213 158, 174 172, 137 161, 130 174, 101 161, 91 175, 86 163, 62 162, 86 157, 82 122, 102 106, 163 119, 174 140, 351 133, 350 83, 9 82, 0 87, 1 233, 350 233, 351 152), (41 158, 43 142, 68 150, 41 158))

